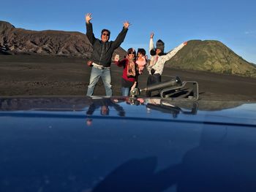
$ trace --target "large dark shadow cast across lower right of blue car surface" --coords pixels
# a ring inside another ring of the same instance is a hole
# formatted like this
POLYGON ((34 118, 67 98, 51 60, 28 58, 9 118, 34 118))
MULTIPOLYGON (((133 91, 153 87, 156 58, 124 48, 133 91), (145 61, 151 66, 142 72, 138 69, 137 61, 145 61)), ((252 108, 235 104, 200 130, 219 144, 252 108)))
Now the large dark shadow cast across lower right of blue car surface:
POLYGON ((254 192, 254 130, 241 128, 240 134, 235 134, 233 127, 230 133, 223 126, 204 128, 200 145, 187 151, 180 164, 157 172, 157 157, 131 159, 108 174, 93 191, 159 192, 174 186, 171 189, 178 192, 254 192))

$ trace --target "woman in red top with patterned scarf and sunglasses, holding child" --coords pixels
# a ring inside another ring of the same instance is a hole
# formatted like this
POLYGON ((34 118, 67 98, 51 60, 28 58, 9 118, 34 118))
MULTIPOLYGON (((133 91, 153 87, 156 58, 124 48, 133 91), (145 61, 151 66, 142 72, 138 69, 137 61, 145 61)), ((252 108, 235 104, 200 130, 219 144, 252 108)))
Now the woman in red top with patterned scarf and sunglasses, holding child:
POLYGON ((138 86, 138 70, 135 63, 135 49, 127 50, 127 57, 121 61, 115 61, 117 66, 123 67, 123 75, 121 79, 121 94, 129 96, 129 91, 138 86))

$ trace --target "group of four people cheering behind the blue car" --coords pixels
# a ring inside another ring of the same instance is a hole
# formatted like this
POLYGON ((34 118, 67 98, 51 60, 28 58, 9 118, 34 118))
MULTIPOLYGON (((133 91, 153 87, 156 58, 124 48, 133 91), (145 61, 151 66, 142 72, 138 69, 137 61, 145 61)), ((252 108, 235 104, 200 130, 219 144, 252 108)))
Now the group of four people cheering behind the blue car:
MULTIPOLYGON (((101 39, 94 37, 91 19, 91 13, 86 14, 86 35, 93 46, 91 58, 88 62, 88 65, 92 66, 92 68, 86 95, 93 95, 94 87, 99 81, 99 77, 102 77, 106 96, 112 96, 110 65, 112 63, 113 52, 124 42, 130 23, 128 21, 124 22, 124 26, 116 39, 109 41, 110 31, 108 29, 102 29, 101 39)), ((123 67, 121 80, 122 96, 129 96, 129 91, 138 87, 138 76, 143 73, 145 66, 149 73, 147 85, 161 82, 165 61, 172 58, 184 45, 187 45, 187 42, 181 43, 181 45, 178 45, 178 47, 165 54, 165 43, 159 39, 157 46, 154 47, 153 37, 154 34, 152 33, 149 42, 149 52, 151 55, 149 64, 147 64, 146 50, 143 48, 139 48, 137 54, 134 48, 129 48, 127 50, 127 56, 121 61, 119 61, 118 57, 115 57, 114 62, 116 65, 123 67)), ((151 92, 147 92, 146 96, 151 96, 151 92)))

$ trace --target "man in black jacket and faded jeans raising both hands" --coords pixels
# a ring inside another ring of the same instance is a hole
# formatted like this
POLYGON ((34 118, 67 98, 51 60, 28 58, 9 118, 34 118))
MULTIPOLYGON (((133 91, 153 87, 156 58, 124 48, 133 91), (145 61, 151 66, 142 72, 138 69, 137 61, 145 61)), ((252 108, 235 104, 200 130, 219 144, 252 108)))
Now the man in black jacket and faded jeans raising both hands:
POLYGON ((89 66, 92 65, 90 82, 87 89, 87 96, 92 96, 94 87, 102 77, 105 86, 106 96, 112 96, 110 65, 114 50, 118 48, 127 34, 129 22, 124 22, 122 31, 118 34, 115 41, 108 41, 110 31, 103 29, 101 39, 96 39, 92 30, 91 13, 86 14, 86 35, 93 46, 89 66))

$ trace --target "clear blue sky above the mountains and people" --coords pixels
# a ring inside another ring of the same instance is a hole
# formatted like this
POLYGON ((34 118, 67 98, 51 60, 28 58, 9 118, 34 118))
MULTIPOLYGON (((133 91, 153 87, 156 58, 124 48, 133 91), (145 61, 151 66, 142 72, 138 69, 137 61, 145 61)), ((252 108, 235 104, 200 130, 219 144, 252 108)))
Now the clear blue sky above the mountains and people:
POLYGON ((84 16, 92 13, 94 34, 102 28, 116 38, 123 22, 132 26, 121 47, 144 47, 149 35, 162 39, 165 51, 191 39, 223 42, 246 61, 256 64, 255 0, 158 0, 98 1, 45 0, 1 1, 0 20, 16 28, 31 30, 80 31, 86 34, 84 16))

